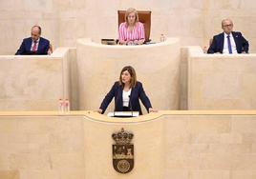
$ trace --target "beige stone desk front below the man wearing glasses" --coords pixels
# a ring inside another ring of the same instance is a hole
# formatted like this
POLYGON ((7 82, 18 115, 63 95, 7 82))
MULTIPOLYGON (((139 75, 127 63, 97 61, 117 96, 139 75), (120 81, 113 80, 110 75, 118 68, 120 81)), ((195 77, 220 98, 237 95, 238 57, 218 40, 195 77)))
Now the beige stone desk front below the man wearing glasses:
POLYGON ((188 109, 255 109, 256 55, 189 48, 188 109))

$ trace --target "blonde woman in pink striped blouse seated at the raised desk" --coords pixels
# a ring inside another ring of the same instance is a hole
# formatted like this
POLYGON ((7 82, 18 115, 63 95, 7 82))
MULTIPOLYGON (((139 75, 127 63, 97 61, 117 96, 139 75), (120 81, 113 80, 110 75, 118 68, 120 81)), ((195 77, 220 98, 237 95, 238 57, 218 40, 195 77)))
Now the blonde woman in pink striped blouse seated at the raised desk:
POLYGON ((145 41, 145 30, 139 22, 137 10, 128 9, 125 13, 125 22, 119 26, 120 45, 141 45, 145 41))

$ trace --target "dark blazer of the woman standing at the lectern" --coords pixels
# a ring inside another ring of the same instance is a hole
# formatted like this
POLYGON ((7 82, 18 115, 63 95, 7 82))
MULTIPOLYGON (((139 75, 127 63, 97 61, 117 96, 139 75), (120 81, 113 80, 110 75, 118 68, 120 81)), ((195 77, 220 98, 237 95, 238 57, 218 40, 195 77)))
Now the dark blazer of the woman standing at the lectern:
MULTIPOLYGON (((108 94, 105 96, 104 100, 102 101, 100 108, 102 109, 102 113, 105 112, 105 110, 108 108, 110 102, 115 97, 115 111, 122 111, 122 86, 116 82, 112 89, 108 92, 108 94)), ((136 86, 132 88, 131 95, 130 95, 130 104, 132 105, 133 111, 139 111, 139 115, 142 114, 142 111, 140 109, 139 105, 139 99, 143 103, 144 107, 147 109, 152 108, 151 103, 142 87, 142 84, 140 82, 137 82, 136 86)), ((131 109, 129 104, 129 109, 131 109)))

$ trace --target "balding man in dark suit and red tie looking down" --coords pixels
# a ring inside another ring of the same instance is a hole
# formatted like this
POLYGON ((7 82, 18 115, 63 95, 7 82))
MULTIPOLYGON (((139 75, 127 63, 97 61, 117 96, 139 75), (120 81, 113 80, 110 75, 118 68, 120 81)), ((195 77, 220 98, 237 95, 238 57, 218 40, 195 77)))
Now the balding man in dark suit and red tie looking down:
POLYGON ((28 55, 28 54, 50 54, 49 40, 40 37, 41 28, 39 26, 32 27, 32 37, 23 39, 23 42, 15 53, 15 55, 28 55))

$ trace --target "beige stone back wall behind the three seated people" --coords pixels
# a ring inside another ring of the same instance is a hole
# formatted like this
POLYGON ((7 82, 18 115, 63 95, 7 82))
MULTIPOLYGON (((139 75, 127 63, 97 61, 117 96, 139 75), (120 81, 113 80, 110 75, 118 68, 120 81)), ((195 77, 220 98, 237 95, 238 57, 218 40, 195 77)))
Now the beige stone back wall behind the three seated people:
POLYGON ((230 17, 235 30, 249 40, 251 51, 256 51, 253 0, 9 0, 0 2, 0 54, 13 54, 34 24, 42 26, 53 48, 75 47, 81 37, 117 38, 117 10, 129 7, 152 10, 153 39, 164 33, 181 37, 182 45, 207 45, 213 34, 222 31, 221 20, 230 17))

